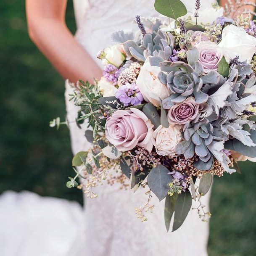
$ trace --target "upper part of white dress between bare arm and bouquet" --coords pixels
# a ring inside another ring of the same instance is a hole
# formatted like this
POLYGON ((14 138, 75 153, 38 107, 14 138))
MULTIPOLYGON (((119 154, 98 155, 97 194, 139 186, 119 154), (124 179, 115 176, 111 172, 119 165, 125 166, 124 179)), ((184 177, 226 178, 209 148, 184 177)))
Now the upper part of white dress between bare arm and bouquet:
POLYGON ((98 51, 113 44, 113 32, 136 29, 136 15, 158 16, 154 0, 74 0, 74 9, 77 40, 95 61, 98 51))

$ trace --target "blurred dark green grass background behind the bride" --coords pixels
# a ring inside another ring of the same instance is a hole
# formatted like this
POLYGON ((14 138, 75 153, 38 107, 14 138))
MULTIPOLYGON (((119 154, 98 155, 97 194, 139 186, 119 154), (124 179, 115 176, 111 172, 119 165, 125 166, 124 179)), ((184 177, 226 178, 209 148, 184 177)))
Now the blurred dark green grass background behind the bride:
MULTIPOLYGON (((72 8, 69 0, 66 21, 75 32, 72 8)), ((65 117, 63 93, 63 79, 29 40, 24 1, 1 0, 0 193, 30 190, 82 203, 81 191, 65 185, 73 174, 69 131, 48 125, 65 117)), ((241 170, 214 180, 209 256, 256 256, 256 165, 241 170)))

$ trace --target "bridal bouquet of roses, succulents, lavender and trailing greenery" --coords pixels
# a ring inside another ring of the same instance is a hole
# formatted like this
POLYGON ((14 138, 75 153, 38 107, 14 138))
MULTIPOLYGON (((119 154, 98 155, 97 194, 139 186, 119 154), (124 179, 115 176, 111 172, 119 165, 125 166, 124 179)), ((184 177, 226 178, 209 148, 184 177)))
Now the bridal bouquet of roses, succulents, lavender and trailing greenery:
MULTIPOLYGON (((80 187, 95 198, 103 180, 127 187, 128 178, 131 189, 148 188, 138 217, 147 219, 154 194, 165 199, 166 228, 175 231, 214 175, 256 159, 256 25, 223 16, 217 4, 201 10, 200 0, 195 13, 179 0, 156 0, 155 8, 163 16, 137 16, 135 34, 113 34, 117 44, 98 53, 103 77, 95 85, 80 81, 71 95, 93 144, 74 156, 81 167, 67 186, 82 177, 80 187)), ((210 216, 197 210, 204 221, 210 216)))

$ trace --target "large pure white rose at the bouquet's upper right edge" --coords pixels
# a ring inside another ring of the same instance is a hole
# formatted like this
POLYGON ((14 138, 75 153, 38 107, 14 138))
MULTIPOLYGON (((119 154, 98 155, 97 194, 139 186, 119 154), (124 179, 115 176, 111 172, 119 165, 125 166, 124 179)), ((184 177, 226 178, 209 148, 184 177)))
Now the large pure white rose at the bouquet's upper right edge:
POLYGON ((251 62, 253 54, 256 52, 256 38, 250 36, 244 29, 229 25, 222 31, 221 47, 230 58, 239 56, 240 61, 251 62))

